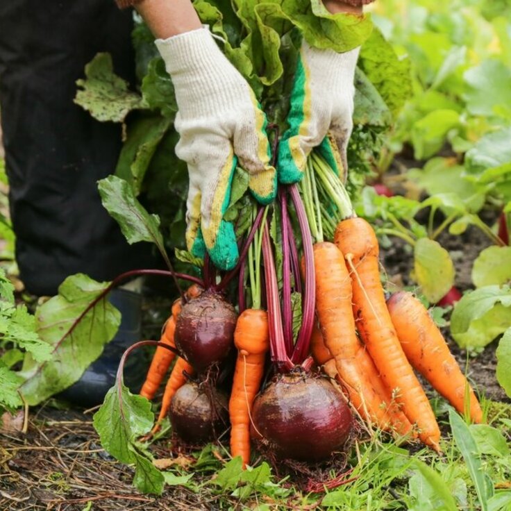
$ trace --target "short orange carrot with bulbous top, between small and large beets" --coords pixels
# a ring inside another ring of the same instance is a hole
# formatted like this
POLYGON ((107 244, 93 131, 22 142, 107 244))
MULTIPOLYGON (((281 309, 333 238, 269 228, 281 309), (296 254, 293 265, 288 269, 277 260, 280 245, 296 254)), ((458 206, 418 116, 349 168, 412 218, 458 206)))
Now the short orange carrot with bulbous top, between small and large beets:
POLYGON ((231 454, 250 461, 250 423, 255 395, 259 392, 269 349, 268 315, 265 310, 246 309, 237 319, 234 344, 238 350, 233 389, 229 401, 231 454))

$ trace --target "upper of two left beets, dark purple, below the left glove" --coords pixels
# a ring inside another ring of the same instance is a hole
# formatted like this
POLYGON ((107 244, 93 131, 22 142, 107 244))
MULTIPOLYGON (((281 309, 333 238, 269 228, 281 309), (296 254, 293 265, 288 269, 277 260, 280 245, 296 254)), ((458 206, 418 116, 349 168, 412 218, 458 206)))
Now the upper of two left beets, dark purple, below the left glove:
POLYGON ((176 322, 176 348, 203 373, 231 351, 236 319, 231 303, 217 293, 204 292, 183 305, 176 322))

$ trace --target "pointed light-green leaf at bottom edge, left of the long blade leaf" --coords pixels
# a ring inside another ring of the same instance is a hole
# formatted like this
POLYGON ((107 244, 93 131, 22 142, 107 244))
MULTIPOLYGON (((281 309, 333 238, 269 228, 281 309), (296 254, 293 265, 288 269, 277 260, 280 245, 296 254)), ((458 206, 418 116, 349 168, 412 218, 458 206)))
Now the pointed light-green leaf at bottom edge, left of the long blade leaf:
POLYGON ((414 475, 408 481, 414 505, 410 511, 455 511, 457 506, 442 476, 421 460, 414 459, 414 475))

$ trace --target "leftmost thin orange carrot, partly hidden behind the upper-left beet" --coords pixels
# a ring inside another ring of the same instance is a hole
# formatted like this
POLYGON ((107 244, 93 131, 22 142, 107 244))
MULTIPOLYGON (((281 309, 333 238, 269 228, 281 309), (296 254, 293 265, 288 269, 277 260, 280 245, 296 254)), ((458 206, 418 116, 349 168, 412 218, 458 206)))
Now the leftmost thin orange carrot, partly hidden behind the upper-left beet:
MULTIPOLYGON (((196 296, 199 296, 202 292, 203 289, 199 285, 192 284, 186 291, 185 296, 187 299, 196 298, 196 296)), ((171 317, 167 319, 167 322, 163 326, 160 338, 160 342, 163 342, 174 349, 176 349, 176 344, 174 344, 174 332, 176 330, 176 321, 181 312, 181 307, 181 299, 174 301, 171 309, 171 317)), ((141 396, 144 396, 147 399, 153 399, 175 357, 175 353, 172 353, 172 351, 166 348, 162 348, 161 346, 156 348, 153 360, 151 360, 151 365, 147 371, 146 379, 142 385, 142 389, 140 390, 141 396)))

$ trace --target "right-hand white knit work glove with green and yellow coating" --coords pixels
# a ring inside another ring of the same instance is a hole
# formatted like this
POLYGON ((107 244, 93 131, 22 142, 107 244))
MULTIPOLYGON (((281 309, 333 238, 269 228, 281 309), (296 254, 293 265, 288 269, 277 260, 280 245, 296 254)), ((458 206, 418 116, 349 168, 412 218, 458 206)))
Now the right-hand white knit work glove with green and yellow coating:
POLYGON ((287 116, 289 128, 278 151, 280 183, 301 180, 307 157, 316 146, 337 174, 346 173, 359 51, 360 47, 336 53, 312 48, 303 40, 287 116))

